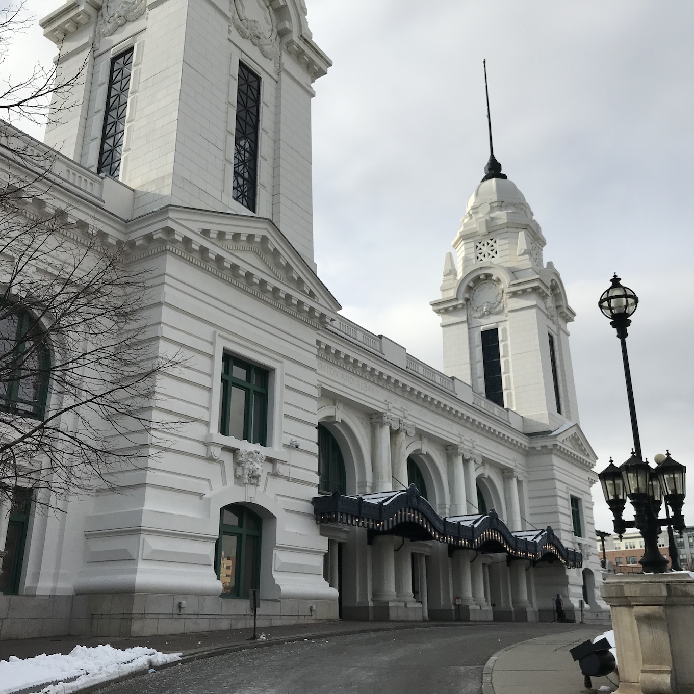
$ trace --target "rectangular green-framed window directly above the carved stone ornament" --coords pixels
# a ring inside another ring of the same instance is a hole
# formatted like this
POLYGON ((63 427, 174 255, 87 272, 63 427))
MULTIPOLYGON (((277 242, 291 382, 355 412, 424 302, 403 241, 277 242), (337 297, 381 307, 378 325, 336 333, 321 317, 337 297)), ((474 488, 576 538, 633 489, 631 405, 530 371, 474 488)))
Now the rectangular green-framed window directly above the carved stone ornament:
POLYGON ((219 433, 240 441, 260 443, 267 439, 267 390, 269 373, 225 354, 219 393, 219 433))

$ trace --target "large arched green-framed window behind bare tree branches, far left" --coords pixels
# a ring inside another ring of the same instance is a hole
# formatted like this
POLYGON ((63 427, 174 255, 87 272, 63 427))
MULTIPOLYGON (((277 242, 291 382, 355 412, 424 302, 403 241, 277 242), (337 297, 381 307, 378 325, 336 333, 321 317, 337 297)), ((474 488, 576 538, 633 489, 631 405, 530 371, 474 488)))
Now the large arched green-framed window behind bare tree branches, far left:
POLYGON ((41 419, 51 355, 37 321, 23 310, 0 318, 0 407, 41 419))

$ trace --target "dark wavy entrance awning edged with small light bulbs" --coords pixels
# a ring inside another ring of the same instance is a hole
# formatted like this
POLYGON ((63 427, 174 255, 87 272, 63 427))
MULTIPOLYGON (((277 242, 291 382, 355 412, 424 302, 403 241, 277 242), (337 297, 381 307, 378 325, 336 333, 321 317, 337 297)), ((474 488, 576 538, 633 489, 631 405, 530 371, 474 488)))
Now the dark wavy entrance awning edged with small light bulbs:
POLYGON ((316 523, 365 527, 412 541, 437 540, 451 549, 505 552, 511 559, 561 561, 568 568, 583 564, 581 552, 564 547, 551 527, 511 532, 494 509, 488 514, 441 518, 411 484, 400 491, 346 496, 339 492, 312 500, 316 523))

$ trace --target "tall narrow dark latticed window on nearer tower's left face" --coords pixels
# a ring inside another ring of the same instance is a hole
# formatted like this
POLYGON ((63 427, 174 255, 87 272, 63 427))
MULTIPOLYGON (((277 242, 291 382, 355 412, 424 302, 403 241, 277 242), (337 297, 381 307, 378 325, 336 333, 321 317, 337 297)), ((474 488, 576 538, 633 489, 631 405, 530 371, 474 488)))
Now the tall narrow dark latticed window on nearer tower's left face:
POLYGON ((123 137, 126 130, 130 74, 133 71, 133 49, 128 49, 111 60, 108 80, 106 112, 103 117, 99 174, 118 178, 123 154, 123 137))

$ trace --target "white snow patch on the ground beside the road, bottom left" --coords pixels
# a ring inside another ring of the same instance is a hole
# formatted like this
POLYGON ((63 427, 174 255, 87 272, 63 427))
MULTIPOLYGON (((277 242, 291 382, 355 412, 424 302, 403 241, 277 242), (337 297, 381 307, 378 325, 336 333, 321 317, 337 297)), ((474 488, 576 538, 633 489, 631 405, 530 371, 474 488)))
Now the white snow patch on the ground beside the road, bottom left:
POLYGON ((75 646, 67 655, 39 655, 24 660, 10 656, 9 660, 0 661, 0 694, 29 688, 41 694, 71 694, 176 660, 180 660, 180 653, 160 653, 143 646, 119 650, 110 645, 75 646))

